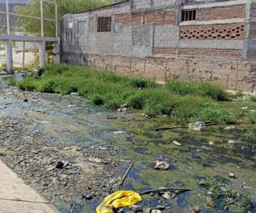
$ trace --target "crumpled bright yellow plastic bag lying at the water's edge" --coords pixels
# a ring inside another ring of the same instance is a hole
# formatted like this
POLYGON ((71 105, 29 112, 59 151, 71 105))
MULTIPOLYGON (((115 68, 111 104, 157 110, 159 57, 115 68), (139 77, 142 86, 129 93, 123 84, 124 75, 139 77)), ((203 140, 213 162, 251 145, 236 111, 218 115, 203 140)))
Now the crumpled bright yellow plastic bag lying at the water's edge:
POLYGON ((133 191, 118 191, 105 197, 105 200, 97 207, 97 213, 114 213, 110 207, 121 208, 142 202, 142 197, 133 191))

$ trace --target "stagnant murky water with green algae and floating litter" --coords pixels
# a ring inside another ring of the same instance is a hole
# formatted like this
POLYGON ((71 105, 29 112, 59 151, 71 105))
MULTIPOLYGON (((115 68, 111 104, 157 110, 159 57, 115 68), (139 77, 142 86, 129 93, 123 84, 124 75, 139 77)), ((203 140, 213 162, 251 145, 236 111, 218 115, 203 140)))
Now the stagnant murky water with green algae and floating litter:
MULTIPOLYGON (((209 175, 225 178, 230 185, 256 200, 255 125, 240 124, 237 126, 240 129, 233 131, 223 131, 219 126, 212 126, 201 132, 188 129, 155 132, 153 129, 156 127, 176 124, 161 117, 145 119, 142 111, 118 113, 95 107, 85 99, 67 96, 63 102, 63 97, 58 94, 23 94, 17 89, 6 87, 4 82, 1 82, 1 86, 0 118, 34 119, 31 131, 53 136, 55 141, 61 141, 66 146, 112 144, 119 147, 120 151, 114 158, 135 161, 120 189, 141 192, 159 187, 181 187, 192 190, 179 194, 173 200, 164 200, 158 195, 144 196, 142 204, 145 207, 154 208, 157 204, 164 204, 170 207, 166 212, 191 212, 189 208, 198 205, 203 212, 224 212, 221 207, 223 200, 215 200, 215 209, 206 206, 208 190, 200 187, 198 182, 209 175), (30 97, 28 103, 23 102, 24 96, 30 97), (117 120, 107 120, 107 114, 119 117, 117 120), (114 131, 123 133, 117 135, 114 131), (228 143, 230 140, 235 143, 228 143), (172 141, 178 141, 182 146, 178 147, 172 141), (209 142, 213 142, 213 145, 210 146, 209 142), (210 156, 207 166, 201 162, 204 155, 210 156), (167 160, 171 168, 154 170, 156 159, 167 160), (228 173, 235 173, 237 178, 229 178, 228 173)), ((120 177, 127 167, 128 163, 122 163, 117 168, 120 177)), ((54 204, 60 212, 95 212, 99 202, 97 198, 90 202, 68 201, 71 206, 75 206, 73 210, 63 207, 63 200, 54 204)), ((230 212, 238 210, 234 206, 230 207, 230 212)))

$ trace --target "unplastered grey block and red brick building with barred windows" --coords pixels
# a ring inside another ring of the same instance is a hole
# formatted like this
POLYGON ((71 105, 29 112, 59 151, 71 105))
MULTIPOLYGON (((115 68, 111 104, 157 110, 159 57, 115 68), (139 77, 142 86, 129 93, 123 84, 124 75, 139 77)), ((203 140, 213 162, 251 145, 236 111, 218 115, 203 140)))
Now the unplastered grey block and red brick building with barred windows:
POLYGON ((256 92, 256 0, 124 0, 63 16, 63 62, 256 92))

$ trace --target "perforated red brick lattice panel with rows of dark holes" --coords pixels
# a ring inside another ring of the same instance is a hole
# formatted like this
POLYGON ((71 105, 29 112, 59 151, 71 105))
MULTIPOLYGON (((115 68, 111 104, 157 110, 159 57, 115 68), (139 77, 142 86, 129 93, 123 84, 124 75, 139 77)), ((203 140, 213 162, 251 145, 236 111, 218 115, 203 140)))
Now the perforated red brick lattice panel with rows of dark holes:
POLYGON ((245 26, 244 23, 181 26, 180 38, 194 40, 239 40, 245 38, 245 26))

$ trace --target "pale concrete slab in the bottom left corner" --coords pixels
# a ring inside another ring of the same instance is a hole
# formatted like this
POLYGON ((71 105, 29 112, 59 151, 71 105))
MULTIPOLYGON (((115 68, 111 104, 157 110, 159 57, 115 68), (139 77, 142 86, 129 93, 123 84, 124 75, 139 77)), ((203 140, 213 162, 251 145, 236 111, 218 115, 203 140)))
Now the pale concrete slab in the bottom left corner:
POLYGON ((49 202, 0 160, 0 213, 56 213, 49 202))

